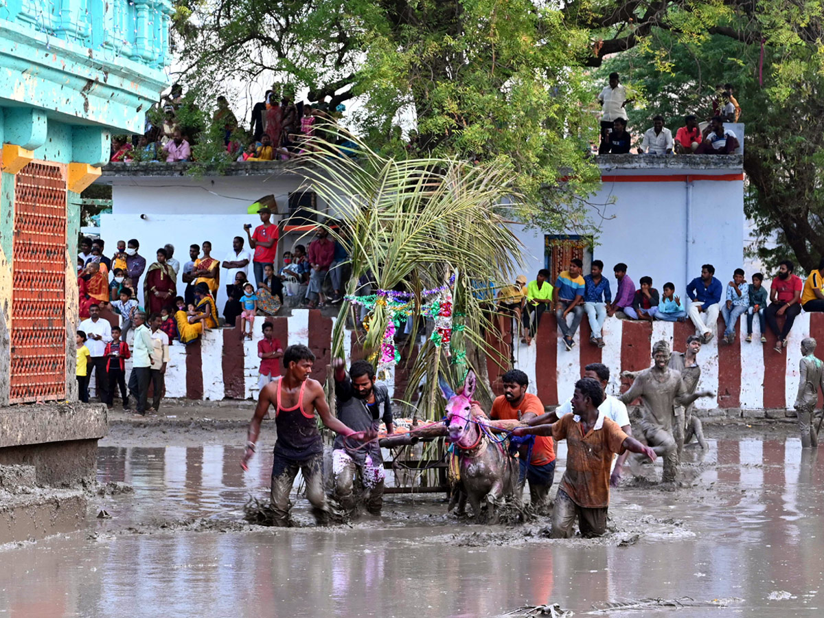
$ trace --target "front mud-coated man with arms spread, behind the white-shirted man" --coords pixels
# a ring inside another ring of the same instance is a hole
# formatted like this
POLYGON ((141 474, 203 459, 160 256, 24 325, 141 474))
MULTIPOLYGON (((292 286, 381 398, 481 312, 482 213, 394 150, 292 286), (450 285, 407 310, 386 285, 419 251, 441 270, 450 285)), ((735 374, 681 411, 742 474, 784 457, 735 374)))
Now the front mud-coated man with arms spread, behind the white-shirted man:
POLYGON ((675 481, 678 472, 678 447, 672 437, 676 406, 690 405, 699 397, 714 396, 712 391, 688 393, 681 372, 668 367, 669 359, 669 344, 664 340, 658 341, 653 346, 653 366, 639 372, 630 390, 620 396, 625 404, 641 398, 641 431, 647 444, 664 458, 661 479, 664 483, 675 481))

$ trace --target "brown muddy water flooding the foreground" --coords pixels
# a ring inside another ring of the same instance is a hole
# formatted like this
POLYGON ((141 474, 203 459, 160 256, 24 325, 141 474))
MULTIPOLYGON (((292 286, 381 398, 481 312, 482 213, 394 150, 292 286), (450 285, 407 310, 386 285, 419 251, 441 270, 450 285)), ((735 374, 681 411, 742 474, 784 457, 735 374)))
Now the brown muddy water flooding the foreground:
POLYGON ((475 617, 549 602, 587 616, 648 597, 742 602, 598 615, 824 616, 824 453, 794 438, 710 441, 700 464, 689 452, 685 487, 612 492, 606 538, 550 541, 546 522, 456 522, 432 496, 390 496, 352 527, 250 527, 242 505, 270 456, 243 473, 237 447, 101 447, 98 480, 133 493, 92 499, 86 531, 2 548, 0 616, 475 617))

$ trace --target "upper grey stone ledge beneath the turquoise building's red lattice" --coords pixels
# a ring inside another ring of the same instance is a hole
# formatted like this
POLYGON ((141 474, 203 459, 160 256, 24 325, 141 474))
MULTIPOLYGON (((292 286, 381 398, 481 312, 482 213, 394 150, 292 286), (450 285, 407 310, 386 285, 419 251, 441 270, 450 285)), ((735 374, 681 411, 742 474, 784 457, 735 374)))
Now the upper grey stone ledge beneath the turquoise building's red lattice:
POLYGON ((98 440, 109 425, 105 405, 65 402, 0 408, 0 448, 98 440))

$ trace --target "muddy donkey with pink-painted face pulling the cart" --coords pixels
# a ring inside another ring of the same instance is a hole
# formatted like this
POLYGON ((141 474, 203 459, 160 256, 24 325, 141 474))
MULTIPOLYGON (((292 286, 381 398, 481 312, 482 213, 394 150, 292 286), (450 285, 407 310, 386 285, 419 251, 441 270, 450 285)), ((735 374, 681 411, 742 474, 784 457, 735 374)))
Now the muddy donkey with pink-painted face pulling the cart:
POLYGON ((482 503, 485 503, 488 521, 495 522, 496 503, 502 498, 514 499, 517 494, 517 461, 504 444, 489 440, 475 423, 475 419, 488 422, 485 416, 472 414, 475 373, 466 375, 464 386, 457 394, 445 381, 441 381, 440 386, 447 399, 447 439, 455 445, 460 470, 449 508, 452 510, 457 501, 458 514, 462 515, 468 499, 475 519, 480 519, 482 503))

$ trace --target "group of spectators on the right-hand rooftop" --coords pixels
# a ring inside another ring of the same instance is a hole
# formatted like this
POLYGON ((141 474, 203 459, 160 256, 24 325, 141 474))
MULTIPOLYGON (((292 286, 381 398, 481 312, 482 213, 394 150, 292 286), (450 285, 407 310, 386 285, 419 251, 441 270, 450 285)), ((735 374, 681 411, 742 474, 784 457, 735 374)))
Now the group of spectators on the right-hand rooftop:
MULTIPOLYGON (((602 106, 601 143, 598 154, 628 154, 632 150, 632 133, 627 131, 626 105, 633 99, 627 98, 626 87, 620 83, 618 73, 611 73, 609 84, 598 95, 602 106)), ((739 141, 736 134, 724 128, 724 123, 738 122, 741 105, 733 96, 733 85, 720 84, 715 87, 712 98, 712 116, 701 130, 695 115, 686 115, 684 125, 672 138, 664 118, 656 115, 653 126, 647 129, 640 143, 636 144, 639 154, 731 154, 736 151, 739 141)))

